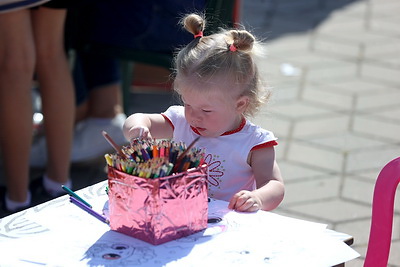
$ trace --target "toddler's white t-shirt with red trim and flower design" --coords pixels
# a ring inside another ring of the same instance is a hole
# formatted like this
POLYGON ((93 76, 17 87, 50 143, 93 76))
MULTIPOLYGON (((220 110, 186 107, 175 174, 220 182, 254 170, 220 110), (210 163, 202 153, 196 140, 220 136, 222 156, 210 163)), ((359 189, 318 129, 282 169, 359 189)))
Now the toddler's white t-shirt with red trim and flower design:
MULTIPOLYGON (((162 115, 171 123, 172 140, 190 144, 198 132, 191 128, 184 115, 183 106, 171 106, 162 115)), ((252 191, 256 183, 247 158, 252 149, 277 145, 277 138, 270 131, 246 119, 238 129, 218 137, 202 137, 195 147, 204 148, 208 165, 209 196, 229 201, 240 190, 252 191)))

